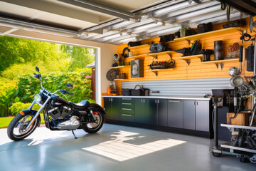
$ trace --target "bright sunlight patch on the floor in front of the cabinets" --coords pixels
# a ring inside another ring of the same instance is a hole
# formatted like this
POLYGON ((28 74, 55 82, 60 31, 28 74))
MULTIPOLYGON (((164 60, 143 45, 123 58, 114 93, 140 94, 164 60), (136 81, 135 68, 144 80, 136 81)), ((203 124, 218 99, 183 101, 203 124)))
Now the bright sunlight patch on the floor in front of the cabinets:
POLYGON ((148 142, 142 145, 134 145, 132 143, 125 142, 127 140, 136 140, 136 142, 139 143, 139 141, 145 138, 145 136, 138 135, 138 133, 119 131, 111 135, 116 137, 114 140, 109 140, 98 145, 93 145, 91 147, 85 147, 82 149, 122 162, 142 155, 147 155, 151 152, 164 150, 175 145, 181 145, 186 142, 170 138, 166 140, 156 140, 154 142, 148 142))

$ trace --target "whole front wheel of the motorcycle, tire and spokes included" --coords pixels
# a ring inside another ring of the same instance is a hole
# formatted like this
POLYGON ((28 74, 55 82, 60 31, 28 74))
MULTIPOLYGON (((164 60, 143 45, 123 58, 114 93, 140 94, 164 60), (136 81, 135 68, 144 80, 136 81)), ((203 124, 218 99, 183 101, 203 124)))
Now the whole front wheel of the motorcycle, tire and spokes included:
POLYGON ((31 135, 31 133, 36 130, 36 126, 40 122, 40 120, 36 118, 33 124, 28 128, 28 130, 26 130, 26 127, 32 118, 33 115, 21 115, 21 113, 18 113, 18 115, 11 120, 11 123, 7 128, 8 137, 11 140, 18 141, 23 140, 24 138, 28 137, 28 135, 31 135))

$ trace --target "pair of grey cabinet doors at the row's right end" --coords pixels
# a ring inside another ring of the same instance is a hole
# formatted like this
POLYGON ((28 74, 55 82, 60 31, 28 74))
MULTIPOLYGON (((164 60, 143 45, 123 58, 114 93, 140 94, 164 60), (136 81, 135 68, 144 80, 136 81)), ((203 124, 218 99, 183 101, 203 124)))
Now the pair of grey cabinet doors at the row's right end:
POLYGON ((183 128, 210 131, 209 101, 183 100, 183 128))

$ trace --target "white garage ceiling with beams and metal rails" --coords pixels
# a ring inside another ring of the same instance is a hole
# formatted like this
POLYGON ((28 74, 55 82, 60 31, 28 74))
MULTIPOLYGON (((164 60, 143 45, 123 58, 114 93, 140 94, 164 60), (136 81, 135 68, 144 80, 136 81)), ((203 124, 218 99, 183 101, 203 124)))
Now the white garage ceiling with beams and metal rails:
MULTIPOLYGON (((173 33, 181 24, 194 27, 226 21, 220 2, 200 1, 201 4, 189 4, 188 0, 4 0, 0 1, 0 26, 9 31, 0 34, 11 36, 16 30, 26 29, 122 44, 173 33), (92 5, 88 7, 87 3, 92 5)), ((240 12, 233 9, 230 19, 239 17, 240 12)))

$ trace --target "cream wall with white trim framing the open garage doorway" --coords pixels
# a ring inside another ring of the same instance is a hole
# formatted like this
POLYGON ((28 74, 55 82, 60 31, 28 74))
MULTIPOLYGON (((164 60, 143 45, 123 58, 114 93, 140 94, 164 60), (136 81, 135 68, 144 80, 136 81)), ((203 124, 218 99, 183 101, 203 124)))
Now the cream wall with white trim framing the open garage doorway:
MULTIPOLYGON (((10 28, 11 29, 11 28, 10 28)), ((0 33, 8 30, 8 28, 0 27, 0 33)), ((28 38, 38 41, 48 41, 53 43, 72 44, 73 46, 84 46, 88 48, 96 48, 97 56, 95 58, 96 67, 100 61, 100 67, 96 68, 96 103, 101 104, 101 93, 106 93, 110 81, 106 79, 106 73, 112 66, 112 56, 117 53, 117 45, 97 43, 92 41, 83 41, 76 38, 65 38, 61 36, 53 36, 45 33, 36 33, 31 31, 18 30, 11 33, 10 36, 28 38), (99 79, 100 78, 100 79, 99 79)))

